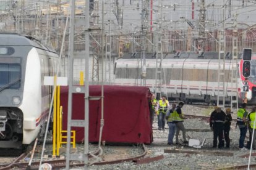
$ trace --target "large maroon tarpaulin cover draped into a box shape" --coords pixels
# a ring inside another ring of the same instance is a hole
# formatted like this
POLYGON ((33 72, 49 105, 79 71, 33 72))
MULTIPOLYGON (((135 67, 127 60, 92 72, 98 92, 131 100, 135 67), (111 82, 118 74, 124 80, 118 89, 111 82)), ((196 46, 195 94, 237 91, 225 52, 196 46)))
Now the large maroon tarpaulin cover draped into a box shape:
MULTIPOLYGON (((89 87, 90 96, 101 96, 101 86, 89 87)), ((84 94, 73 94, 72 119, 84 119, 84 94)), ((151 144, 153 132, 150 116, 151 94, 147 87, 104 86, 104 127, 102 141, 151 144)), ((61 87, 62 129, 67 129, 68 87, 61 87)), ((101 100, 89 102, 89 142, 100 136, 101 100)), ((72 127, 76 141, 84 138, 83 127, 72 127)))

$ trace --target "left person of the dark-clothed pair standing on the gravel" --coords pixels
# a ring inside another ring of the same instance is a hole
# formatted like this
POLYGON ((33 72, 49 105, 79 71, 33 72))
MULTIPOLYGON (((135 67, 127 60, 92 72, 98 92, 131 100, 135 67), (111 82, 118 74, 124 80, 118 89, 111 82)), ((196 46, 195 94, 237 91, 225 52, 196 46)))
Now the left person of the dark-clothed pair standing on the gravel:
POLYGON ((218 148, 224 147, 223 128, 226 114, 220 107, 216 108, 216 114, 213 119, 213 148, 217 147, 217 139, 219 139, 218 148))

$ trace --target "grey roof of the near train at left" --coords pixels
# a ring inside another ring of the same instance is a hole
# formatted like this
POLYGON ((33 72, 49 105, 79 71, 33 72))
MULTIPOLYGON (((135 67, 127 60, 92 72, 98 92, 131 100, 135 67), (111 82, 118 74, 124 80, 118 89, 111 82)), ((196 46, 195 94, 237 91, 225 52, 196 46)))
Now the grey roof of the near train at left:
POLYGON ((38 49, 56 53, 53 49, 44 46, 32 36, 22 36, 17 33, 0 33, 0 46, 33 46, 38 49))

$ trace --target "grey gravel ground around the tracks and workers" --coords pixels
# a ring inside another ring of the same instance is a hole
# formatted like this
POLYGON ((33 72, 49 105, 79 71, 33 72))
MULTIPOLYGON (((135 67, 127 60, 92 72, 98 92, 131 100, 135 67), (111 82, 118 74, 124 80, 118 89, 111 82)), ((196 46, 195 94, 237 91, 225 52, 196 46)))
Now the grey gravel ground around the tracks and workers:
MULTIPOLYGON (((209 116, 213 107, 195 107, 192 105, 184 105, 182 108, 184 114, 189 115, 204 115, 209 116)), ((236 110, 233 110, 233 118, 236 118, 236 110)), ((250 110, 249 110, 250 111, 250 110)), ((203 139, 206 139, 206 143, 202 148, 190 148, 182 147, 181 145, 167 145, 168 139, 168 126, 166 125, 165 131, 158 131, 157 127, 157 118, 155 117, 155 122, 153 124, 153 137, 154 142, 151 145, 146 145, 148 150, 146 157, 154 157, 158 155, 164 155, 164 158, 159 161, 154 161, 148 164, 136 164, 133 162, 124 162, 119 164, 109 164, 104 166, 90 166, 89 169, 215 169, 215 168, 224 168, 227 166, 234 166, 238 164, 247 164, 248 158, 239 158, 238 156, 245 155, 249 151, 240 151, 238 150, 239 144, 239 129, 236 129, 236 123, 231 124, 230 138, 231 138, 231 148, 230 149, 218 149, 211 148, 213 145, 213 132, 187 132, 187 137, 192 137, 192 139, 198 139, 202 142, 203 139), (183 150, 198 150, 198 151, 220 151, 220 152, 233 152, 234 156, 215 156, 215 155, 203 155, 203 154, 187 154, 187 153, 164 153, 164 149, 178 148, 183 150)), ((200 119, 186 119, 184 121, 184 126, 186 128, 192 129, 210 129, 209 124, 200 119)), ((247 136, 249 134, 247 133, 247 136)), ((179 136, 179 139, 182 139, 182 136, 179 136)), ((247 139, 245 139, 247 140, 247 139)), ((33 146, 31 146, 32 148, 33 146)), ((77 145, 78 150, 83 150, 83 145, 77 145)), ((97 145, 90 144, 90 151, 96 150, 97 145)), ((118 148, 118 147, 116 147, 118 148)), ((116 151, 115 147, 105 146, 103 156, 108 154, 114 154, 116 151)), ((139 147, 127 147, 128 152, 131 155, 140 155, 142 154, 142 149, 139 147)), ((46 146, 45 155, 51 155, 51 145, 46 146)), ((63 157, 65 153, 61 154, 63 157)), ((40 160, 41 156, 41 145, 36 149, 35 156, 33 161, 40 160)), ((59 159, 59 158, 54 158, 59 159)), ((44 160, 53 160, 53 158, 44 158, 44 160)), ((23 161, 29 161, 29 158, 25 158, 23 161)), ((255 157, 252 157, 251 163, 256 163, 255 157)), ((79 169, 79 168, 74 168, 79 169)))

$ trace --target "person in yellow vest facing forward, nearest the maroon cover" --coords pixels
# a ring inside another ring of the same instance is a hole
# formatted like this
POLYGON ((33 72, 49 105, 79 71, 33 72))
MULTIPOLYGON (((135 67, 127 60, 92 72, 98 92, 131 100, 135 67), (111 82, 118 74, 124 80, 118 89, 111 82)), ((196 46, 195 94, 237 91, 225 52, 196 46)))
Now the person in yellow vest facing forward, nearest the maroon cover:
POLYGON ((166 111, 169 107, 169 102, 166 100, 166 97, 163 95, 162 99, 158 102, 158 111, 159 111, 159 124, 158 124, 158 130, 164 131, 164 125, 165 125, 165 115, 166 111))

